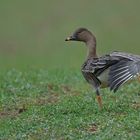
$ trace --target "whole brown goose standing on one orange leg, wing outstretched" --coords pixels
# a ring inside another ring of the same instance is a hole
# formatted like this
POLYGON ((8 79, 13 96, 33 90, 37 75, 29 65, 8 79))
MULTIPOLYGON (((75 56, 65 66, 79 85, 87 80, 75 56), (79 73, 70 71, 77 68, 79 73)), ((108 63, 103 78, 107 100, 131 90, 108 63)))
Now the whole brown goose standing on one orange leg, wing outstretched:
POLYGON ((121 85, 140 75, 139 55, 115 51, 98 57, 96 38, 86 28, 77 29, 66 41, 81 41, 86 44, 88 55, 81 70, 87 82, 95 88, 100 107, 100 88, 109 87, 116 92, 121 85))

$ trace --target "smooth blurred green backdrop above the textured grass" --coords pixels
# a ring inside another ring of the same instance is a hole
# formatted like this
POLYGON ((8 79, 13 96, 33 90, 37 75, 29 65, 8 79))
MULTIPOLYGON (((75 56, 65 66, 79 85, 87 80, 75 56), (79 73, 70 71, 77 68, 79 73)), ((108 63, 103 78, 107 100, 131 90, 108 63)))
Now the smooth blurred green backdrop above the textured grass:
POLYGON ((79 69, 86 47, 64 41, 78 27, 96 35, 100 55, 140 54, 139 13, 139 0, 1 0, 0 69, 79 69))

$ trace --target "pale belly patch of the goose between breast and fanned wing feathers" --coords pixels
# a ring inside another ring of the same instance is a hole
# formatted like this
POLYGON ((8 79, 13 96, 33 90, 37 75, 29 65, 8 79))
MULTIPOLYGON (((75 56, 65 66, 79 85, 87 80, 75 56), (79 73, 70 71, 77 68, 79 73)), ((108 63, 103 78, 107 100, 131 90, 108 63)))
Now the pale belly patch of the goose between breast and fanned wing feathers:
POLYGON ((99 76, 98 79, 101 81, 101 88, 105 88, 109 86, 109 68, 103 71, 99 76))

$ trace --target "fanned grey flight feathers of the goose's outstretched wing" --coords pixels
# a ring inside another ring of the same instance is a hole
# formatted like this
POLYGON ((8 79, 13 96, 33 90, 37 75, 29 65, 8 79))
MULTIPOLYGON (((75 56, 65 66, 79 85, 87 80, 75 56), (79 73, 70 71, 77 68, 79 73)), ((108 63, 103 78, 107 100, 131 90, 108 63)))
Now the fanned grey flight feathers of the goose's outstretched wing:
POLYGON ((109 72, 110 90, 116 92, 121 85, 140 74, 140 56, 116 52, 111 55, 121 58, 117 64, 110 67, 109 72))

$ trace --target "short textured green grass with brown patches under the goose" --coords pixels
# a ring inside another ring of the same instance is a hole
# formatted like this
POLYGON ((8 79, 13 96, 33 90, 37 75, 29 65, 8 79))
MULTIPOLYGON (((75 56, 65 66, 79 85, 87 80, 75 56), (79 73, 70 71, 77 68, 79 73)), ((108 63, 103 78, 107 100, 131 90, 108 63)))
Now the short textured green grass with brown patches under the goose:
POLYGON ((74 70, 12 69, 0 91, 0 139, 140 139, 138 82, 102 90, 102 110, 74 70))

